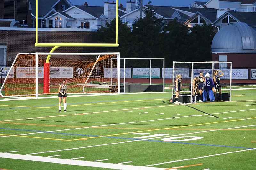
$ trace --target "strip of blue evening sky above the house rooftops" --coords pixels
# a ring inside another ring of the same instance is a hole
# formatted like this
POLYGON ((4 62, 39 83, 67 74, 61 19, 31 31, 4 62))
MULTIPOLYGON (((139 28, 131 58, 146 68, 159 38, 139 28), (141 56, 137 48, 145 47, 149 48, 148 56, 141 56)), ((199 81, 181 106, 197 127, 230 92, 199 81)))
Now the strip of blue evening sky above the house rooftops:
MULTIPOLYGON (((107 0, 69 0, 73 5, 84 5, 87 2, 88 6, 104 6, 104 2, 107 0)), ((122 4, 126 8, 126 2, 130 0, 118 0, 118 4, 122 4)), ((132 0, 135 1, 135 0, 132 0)), ((149 0, 143 0, 143 5, 147 5, 149 0)), ((193 4, 195 1, 207 2, 208 0, 151 0, 151 5, 154 6, 177 6, 177 7, 189 7, 189 4, 193 4)), ((109 0, 113 2, 113 0, 109 0)), ((114 0, 116 2, 116 0, 114 0)))

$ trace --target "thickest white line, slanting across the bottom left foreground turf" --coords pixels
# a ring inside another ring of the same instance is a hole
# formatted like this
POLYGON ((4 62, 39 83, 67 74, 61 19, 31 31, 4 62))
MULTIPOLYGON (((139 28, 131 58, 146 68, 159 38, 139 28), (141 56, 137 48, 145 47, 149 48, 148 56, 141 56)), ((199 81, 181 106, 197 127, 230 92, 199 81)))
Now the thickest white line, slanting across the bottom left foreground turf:
POLYGON ((49 157, 42 157, 42 156, 20 155, 20 154, 1 153, 1 152, 0 152, 0 158, 20 159, 20 160, 29 160, 29 161, 37 161, 37 162, 49 162, 49 163, 56 163, 56 164, 89 166, 89 167, 119 169, 119 170, 164 170, 166 169, 166 168, 155 168, 155 167, 123 165, 123 164, 110 164, 110 163, 104 163, 104 162, 91 162, 91 161, 83 161, 83 160, 49 158, 49 157))

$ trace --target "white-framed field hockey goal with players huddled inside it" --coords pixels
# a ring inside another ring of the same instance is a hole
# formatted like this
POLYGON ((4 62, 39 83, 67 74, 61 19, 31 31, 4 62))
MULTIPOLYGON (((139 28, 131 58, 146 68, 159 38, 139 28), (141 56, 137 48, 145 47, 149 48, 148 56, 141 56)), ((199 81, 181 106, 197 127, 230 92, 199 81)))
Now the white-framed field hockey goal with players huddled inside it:
MULTIPOLYGON (((206 73, 210 74, 210 78, 213 80, 213 71, 214 70, 221 70, 224 76, 220 77, 220 85, 221 85, 221 92, 222 98, 224 101, 231 101, 231 80, 232 80, 232 62, 217 62, 217 61, 210 61, 210 62, 173 62, 173 71, 172 71, 172 98, 170 102, 175 102, 175 80, 176 75, 180 74, 182 76, 181 83, 182 83, 182 90, 178 96, 179 103, 192 103, 193 102, 193 79, 196 76, 200 75, 200 72, 203 72, 204 77, 206 73)), ((219 75, 221 72, 219 72, 219 75)), ((220 101, 220 95, 218 89, 215 95, 215 101, 220 101)), ((196 97, 196 91, 195 96, 196 97)), ((208 101, 209 96, 208 96, 208 101)))

